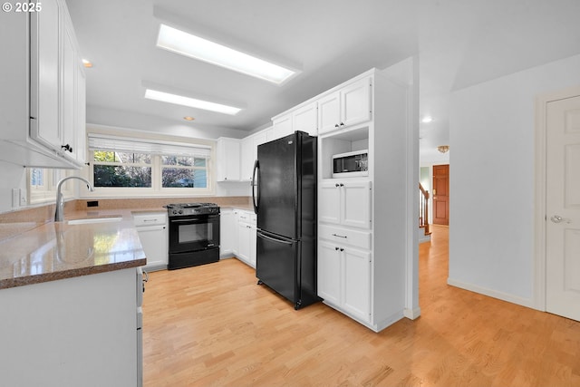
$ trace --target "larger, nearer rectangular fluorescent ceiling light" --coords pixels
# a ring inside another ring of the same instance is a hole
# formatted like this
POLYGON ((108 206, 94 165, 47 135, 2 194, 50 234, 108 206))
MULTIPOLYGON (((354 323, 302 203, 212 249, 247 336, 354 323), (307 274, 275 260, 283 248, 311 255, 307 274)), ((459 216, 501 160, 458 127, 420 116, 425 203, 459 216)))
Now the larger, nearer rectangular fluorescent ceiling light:
POLYGON ((225 45, 210 42, 194 34, 169 27, 166 24, 160 24, 157 45, 173 53, 216 64, 276 84, 285 82, 296 73, 225 45))

